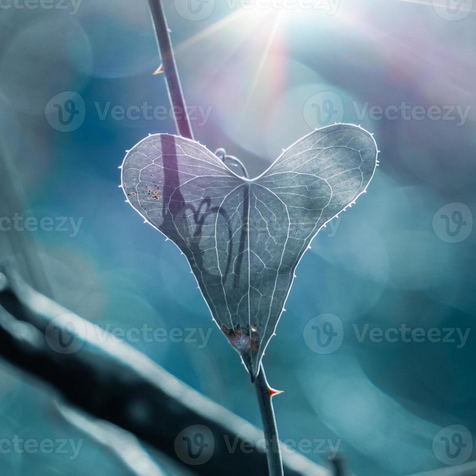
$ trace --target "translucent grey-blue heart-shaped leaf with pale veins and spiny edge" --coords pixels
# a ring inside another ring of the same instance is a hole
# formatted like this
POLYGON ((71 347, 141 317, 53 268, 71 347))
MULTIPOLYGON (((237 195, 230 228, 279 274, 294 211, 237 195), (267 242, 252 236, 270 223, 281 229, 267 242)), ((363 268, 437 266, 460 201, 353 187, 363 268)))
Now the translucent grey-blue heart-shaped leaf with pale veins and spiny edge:
POLYGON ((298 140, 249 180, 198 142, 156 134, 127 153, 122 187, 187 257, 254 379, 299 260, 323 225, 365 191, 376 158, 371 134, 336 124, 298 140))

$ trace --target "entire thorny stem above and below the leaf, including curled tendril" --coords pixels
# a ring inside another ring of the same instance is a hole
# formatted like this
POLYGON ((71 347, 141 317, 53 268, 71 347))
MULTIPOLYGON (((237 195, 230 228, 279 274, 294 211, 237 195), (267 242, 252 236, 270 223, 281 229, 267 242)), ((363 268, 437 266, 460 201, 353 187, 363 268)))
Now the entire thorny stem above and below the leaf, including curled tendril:
MULTIPOLYGON (((187 107, 185 105, 182 86, 180 85, 177 65, 175 64, 175 57, 172 49, 172 42, 170 40, 169 28, 167 27, 167 20, 162 8, 162 3, 161 0, 149 0, 149 3, 151 5, 153 25, 157 36, 160 55, 162 57, 162 68, 165 74, 177 134, 179 136, 193 139, 192 128, 187 115, 187 107)), ((245 177, 248 177, 246 168, 236 157, 225 156, 224 151, 223 155, 223 159, 229 158, 235 165, 243 170, 245 177)), ((259 411, 261 413, 261 421, 263 422, 268 470, 270 476, 284 476, 283 461, 281 458, 281 450, 279 448, 278 430, 271 401, 272 396, 268 389, 269 385, 266 380, 263 364, 261 364, 259 374, 255 380, 255 390, 258 398, 259 411)))

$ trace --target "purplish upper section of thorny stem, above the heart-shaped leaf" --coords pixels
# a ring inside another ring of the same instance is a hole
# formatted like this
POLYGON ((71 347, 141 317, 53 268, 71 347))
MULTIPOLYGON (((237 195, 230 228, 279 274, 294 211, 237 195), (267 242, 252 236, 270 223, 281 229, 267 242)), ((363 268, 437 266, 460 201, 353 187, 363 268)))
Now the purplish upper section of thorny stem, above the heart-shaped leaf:
POLYGON ((170 105, 172 106, 173 117, 177 134, 182 137, 193 139, 192 128, 187 114, 184 94, 175 64, 175 57, 170 41, 169 28, 165 19, 164 9, 160 0, 149 0, 152 11, 152 20, 157 36, 157 44, 162 57, 162 68, 164 69, 165 82, 169 92, 170 105))

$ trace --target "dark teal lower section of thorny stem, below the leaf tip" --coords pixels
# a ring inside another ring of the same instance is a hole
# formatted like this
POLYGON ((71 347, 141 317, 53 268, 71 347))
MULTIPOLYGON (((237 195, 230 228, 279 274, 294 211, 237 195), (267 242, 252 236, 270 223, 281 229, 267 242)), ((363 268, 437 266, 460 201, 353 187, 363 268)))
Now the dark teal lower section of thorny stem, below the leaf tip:
POLYGON ((272 407, 272 396, 269 392, 268 381, 264 373, 263 364, 259 367, 259 374, 255 379, 255 390, 258 398, 261 421, 263 423, 264 438, 266 442, 266 457, 270 476, 284 476, 281 449, 279 448, 278 429, 272 407))

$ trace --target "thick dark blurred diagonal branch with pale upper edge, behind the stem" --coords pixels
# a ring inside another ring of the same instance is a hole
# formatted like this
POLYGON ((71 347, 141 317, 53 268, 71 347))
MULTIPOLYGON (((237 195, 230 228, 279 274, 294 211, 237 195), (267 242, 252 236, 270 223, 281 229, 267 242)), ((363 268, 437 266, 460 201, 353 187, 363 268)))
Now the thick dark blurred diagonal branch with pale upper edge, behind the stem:
MULTIPOLYGON (((250 469, 253 474, 266 474, 266 456, 258 442, 263 433, 255 426, 34 291, 16 275, 5 281, 0 289, 1 356, 47 381, 73 405, 130 431, 170 458, 178 459, 174 442, 184 428, 206 426, 215 450, 208 461, 189 467, 195 474, 238 476, 250 469), (54 342, 68 342, 68 347, 54 342), (70 349, 75 352, 67 353, 70 349), (240 450, 242 443, 246 452, 240 450)), ((329 476, 327 470, 289 449, 283 462, 289 476, 329 476)))

